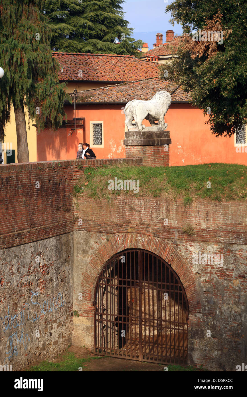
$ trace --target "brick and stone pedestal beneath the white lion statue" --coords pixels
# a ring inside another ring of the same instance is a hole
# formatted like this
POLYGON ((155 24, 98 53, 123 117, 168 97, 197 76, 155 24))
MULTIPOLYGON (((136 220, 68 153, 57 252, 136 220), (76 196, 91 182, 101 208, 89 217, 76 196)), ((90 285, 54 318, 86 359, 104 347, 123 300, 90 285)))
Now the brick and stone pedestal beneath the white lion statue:
POLYGON ((170 131, 125 131, 126 158, 142 157, 145 166, 169 166, 170 131))

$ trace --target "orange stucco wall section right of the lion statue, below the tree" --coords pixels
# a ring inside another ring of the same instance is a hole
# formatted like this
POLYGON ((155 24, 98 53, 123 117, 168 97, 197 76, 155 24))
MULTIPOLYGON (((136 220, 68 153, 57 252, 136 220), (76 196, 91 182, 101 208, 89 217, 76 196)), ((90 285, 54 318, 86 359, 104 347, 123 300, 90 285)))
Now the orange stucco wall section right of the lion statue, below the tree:
POLYGON ((247 165, 247 153, 236 152, 234 135, 216 138, 205 124, 207 116, 191 104, 172 104, 166 114, 170 130, 170 166, 203 163, 247 165))

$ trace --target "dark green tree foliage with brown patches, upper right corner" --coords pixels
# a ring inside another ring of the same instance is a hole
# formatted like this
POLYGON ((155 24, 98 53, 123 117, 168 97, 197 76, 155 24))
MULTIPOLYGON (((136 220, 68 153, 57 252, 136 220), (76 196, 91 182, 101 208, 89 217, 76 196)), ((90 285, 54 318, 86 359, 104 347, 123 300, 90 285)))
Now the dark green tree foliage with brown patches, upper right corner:
MULTIPOLYGON (((191 91, 193 104, 203 109, 204 114, 211 108, 208 124, 217 137, 232 135, 247 119, 247 2, 175 0, 166 8, 166 12, 171 12, 172 24, 182 24, 184 33, 190 34, 198 29, 207 31, 203 29, 207 19, 214 21, 218 11, 222 13, 221 30, 232 29, 232 33, 224 35, 213 56, 205 50, 198 51, 192 59, 188 48, 181 46, 178 58, 161 67, 168 70, 169 80, 176 81, 184 91, 191 91)), ((205 42, 205 49, 206 45, 209 42, 205 42)), ((164 79, 163 73, 161 77, 164 79)))

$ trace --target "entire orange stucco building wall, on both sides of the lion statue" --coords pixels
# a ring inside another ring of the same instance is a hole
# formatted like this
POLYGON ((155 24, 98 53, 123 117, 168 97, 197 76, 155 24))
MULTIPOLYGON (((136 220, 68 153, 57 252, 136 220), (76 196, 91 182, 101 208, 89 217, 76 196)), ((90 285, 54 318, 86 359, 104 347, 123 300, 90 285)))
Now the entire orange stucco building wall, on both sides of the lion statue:
MULTIPOLYGON (((123 106, 77 105, 76 117, 85 117, 86 142, 97 158, 125 157, 123 106), (90 142, 90 121, 103 121, 103 148, 93 147, 90 142)), ((73 119, 73 106, 65 106, 65 112, 68 119, 73 119)), ((203 112, 191 104, 171 104, 165 117, 172 139, 170 166, 208 162, 247 165, 247 152, 236 152, 234 135, 216 138, 205 124, 206 121, 203 112)), ((143 123, 149 125, 146 120, 143 123)), ((75 159, 77 145, 82 141, 83 131, 80 128, 72 135, 68 127, 55 132, 46 129, 37 135, 37 161, 75 159)))

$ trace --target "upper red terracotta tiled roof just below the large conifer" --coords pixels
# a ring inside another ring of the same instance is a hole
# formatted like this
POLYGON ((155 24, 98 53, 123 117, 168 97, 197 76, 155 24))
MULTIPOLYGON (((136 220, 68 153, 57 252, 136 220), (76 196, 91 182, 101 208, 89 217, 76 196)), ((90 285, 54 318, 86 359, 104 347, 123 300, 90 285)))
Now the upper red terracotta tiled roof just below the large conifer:
POLYGON ((157 64, 135 58, 133 55, 80 54, 52 52, 63 72, 59 80, 135 81, 157 77, 157 64))

